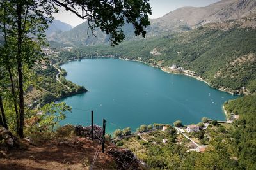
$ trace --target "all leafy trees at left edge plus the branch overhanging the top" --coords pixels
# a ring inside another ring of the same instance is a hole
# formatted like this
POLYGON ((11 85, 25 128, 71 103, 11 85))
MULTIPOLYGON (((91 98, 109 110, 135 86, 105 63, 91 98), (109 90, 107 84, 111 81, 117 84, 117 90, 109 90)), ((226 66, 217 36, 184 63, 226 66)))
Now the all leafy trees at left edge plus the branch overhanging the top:
MULTIPOLYGON (((109 35, 111 45, 118 45, 125 38, 122 26, 134 25, 136 36, 145 36, 145 27, 150 24, 151 14, 148 0, 16 0, 0 1, 0 124, 6 128, 4 107, 15 108, 15 130, 23 138, 26 106, 24 94, 28 83, 24 74, 33 69, 36 62, 44 59, 42 45, 47 45, 45 31, 52 22, 53 13, 60 7, 87 20, 88 31, 99 27, 109 35), (2 71, 3 70, 3 71, 2 71), (15 70, 15 71, 14 71, 15 70), (4 82, 3 82, 4 81, 4 82), (9 86, 11 84, 11 86, 9 86), (4 87, 4 88, 3 88, 4 87), (4 96, 3 96, 4 94, 4 96), (8 94, 8 95, 7 95, 8 94), (11 97, 10 97, 11 96, 11 97), (7 102, 4 106, 3 103, 7 102)), ((85 35, 84 35, 85 36, 85 35)))

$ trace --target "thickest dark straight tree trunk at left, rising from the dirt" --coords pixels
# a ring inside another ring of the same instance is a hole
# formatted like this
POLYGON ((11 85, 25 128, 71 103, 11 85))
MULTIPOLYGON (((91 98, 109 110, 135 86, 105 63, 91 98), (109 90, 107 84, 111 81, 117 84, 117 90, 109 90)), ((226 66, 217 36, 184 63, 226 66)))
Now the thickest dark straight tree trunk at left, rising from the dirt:
POLYGON ((19 77, 19 105, 20 105, 20 120, 19 131, 20 138, 24 137, 24 91, 23 91, 23 74, 22 74, 22 2, 17 2, 17 24, 18 24, 18 38, 17 38, 17 72, 19 77))

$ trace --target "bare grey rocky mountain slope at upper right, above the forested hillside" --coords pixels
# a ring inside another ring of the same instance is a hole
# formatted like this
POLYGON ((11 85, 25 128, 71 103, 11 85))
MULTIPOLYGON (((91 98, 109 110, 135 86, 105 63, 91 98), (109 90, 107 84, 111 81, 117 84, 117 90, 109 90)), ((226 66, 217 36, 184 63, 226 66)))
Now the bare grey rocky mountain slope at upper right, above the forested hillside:
POLYGON ((198 27, 212 22, 241 19, 253 13, 256 13, 255 0, 223 0, 201 8, 179 8, 152 20, 152 25, 170 31, 177 29, 180 25, 198 27))

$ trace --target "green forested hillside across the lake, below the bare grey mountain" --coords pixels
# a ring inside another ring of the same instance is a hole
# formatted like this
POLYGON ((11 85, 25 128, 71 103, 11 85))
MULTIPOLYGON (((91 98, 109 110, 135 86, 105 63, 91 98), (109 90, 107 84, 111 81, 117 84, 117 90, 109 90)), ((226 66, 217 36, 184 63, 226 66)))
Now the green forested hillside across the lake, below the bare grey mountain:
POLYGON ((195 71, 213 87, 234 90, 245 87, 253 93, 256 90, 256 29, 246 26, 253 24, 254 20, 206 24, 180 34, 127 41, 115 48, 81 46, 74 53, 83 57, 112 55, 166 67, 176 64, 195 71))

